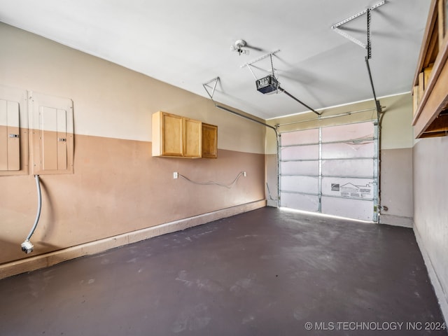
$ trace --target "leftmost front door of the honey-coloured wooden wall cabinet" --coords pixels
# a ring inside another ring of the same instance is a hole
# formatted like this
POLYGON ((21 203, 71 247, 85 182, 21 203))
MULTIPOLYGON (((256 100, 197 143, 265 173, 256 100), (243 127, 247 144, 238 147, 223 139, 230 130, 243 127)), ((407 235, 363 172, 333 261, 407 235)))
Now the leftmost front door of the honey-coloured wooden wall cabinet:
POLYGON ((162 156, 182 156, 183 118, 169 113, 162 113, 161 118, 162 156))

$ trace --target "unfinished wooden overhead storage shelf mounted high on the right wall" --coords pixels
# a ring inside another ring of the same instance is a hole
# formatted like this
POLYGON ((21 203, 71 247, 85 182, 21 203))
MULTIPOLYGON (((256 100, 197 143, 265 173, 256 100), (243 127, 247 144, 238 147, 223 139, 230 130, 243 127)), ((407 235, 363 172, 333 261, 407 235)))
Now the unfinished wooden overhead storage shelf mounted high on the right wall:
POLYGON ((432 0, 414 76, 414 136, 448 134, 448 0, 432 0))

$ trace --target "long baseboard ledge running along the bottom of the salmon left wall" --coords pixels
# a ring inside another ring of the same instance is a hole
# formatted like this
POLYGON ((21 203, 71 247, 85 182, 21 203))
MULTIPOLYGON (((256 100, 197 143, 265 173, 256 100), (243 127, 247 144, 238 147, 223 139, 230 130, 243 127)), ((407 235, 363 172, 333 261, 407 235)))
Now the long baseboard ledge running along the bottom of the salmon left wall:
POLYGON ((260 209, 262 207, 266 207, 266 200, 259 200, 251 203, 241 204, 227 209, 212 211, 207 214, 184 218, 179 221, 156 225, 151 228, 127 232, 123 233, 122 235, 116 235, 113 237, 99 239, 97 241, 91 241, 89 243, 80 244, 69 248, 63 248, 58 251, 36 255, 35 257, 31 258, 7 262, 3 265, 0 265, 0 279, 56 265, 59 262, 79 258, 84 255, 101 253, 111 248, 132 244, 148 238, 193 228, 197 225, 202 225, 211 221, 217 221, 221 218, 235 216, 237 214, 260 209))

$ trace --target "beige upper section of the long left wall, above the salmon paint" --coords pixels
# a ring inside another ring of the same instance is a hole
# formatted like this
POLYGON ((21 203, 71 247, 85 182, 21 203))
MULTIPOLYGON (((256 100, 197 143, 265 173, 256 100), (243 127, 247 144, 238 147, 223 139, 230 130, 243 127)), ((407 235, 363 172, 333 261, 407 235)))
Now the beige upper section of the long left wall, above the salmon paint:
POLYGON ((218 125, 218 148, 265 152, 265 127, 210 99, 3 23, 0 43, 0 84, 72 99, 76 134, 151 141, 151 115, 167 111, 218 125))

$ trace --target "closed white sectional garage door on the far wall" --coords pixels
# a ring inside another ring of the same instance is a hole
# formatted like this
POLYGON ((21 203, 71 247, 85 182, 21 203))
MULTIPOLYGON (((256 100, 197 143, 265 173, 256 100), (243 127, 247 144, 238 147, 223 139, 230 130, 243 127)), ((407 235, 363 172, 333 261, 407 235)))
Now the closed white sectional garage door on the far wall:
POLYGON ((377 134, 372 122, 282 133, 281 207, 377 221, 377 134))

